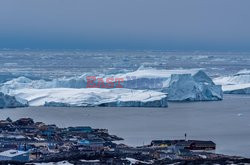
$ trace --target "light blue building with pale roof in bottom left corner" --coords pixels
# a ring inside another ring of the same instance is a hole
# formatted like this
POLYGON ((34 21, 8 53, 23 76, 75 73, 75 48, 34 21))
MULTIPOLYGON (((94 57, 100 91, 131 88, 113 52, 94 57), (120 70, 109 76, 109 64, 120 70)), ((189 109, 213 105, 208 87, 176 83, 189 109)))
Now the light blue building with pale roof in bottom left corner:
POLYGON ((13 149, 7 150, 0 153, 0 161, 26 162, 29 161, 29 153, 13 149))

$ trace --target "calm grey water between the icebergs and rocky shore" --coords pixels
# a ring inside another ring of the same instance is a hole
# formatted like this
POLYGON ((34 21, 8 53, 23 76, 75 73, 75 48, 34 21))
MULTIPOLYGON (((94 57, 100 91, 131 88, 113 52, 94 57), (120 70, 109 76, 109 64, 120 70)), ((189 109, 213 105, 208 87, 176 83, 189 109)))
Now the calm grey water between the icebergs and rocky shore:
POLYGON ((1 109, 0 119, 31 117, 60 127, 108 128, 129 145, 153 139, 213 140, 218 153, 250 157, 250 96, 226 95, 223 101, 169 103, 168 108, 1 109))

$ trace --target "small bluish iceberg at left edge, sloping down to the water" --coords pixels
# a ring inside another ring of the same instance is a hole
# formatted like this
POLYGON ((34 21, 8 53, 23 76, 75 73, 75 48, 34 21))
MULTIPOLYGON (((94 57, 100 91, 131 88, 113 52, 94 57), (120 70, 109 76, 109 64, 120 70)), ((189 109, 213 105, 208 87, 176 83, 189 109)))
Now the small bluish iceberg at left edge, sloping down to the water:
POLYGON ((0 92, 0 108, 17 108, 26 106, 28 106, 27 101, 0 92))

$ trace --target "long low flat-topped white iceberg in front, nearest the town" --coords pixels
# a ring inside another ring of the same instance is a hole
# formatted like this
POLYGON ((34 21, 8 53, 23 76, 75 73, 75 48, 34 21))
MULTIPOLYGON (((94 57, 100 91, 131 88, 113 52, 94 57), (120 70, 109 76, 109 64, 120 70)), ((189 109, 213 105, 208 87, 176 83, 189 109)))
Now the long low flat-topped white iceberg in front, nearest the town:
POLYGON ((168 106, 166 94, 151 90, 125 88, 24 88, 15 90, 12 94, 28 100, 31 106, 168 106))

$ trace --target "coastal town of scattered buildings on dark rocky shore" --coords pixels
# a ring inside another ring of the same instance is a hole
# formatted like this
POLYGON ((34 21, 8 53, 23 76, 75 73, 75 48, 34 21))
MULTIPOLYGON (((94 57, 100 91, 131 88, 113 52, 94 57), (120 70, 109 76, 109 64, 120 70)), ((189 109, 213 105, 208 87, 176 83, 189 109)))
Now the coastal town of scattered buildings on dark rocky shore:
MULTIPOLYGON (((175 162, 250 163, 249 159, 216 154, 216 144, 203 140, 153 140, 132 147, 107 129, 59 128, 31 118, 0 120, 0 164, 171 164, 175 162)), ((198 163, 199 164, 199 163, 198 163)))

